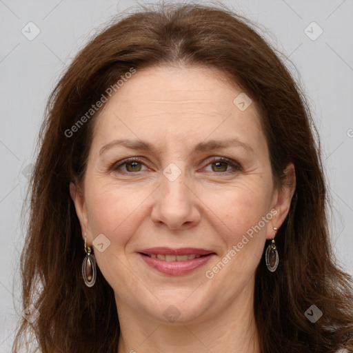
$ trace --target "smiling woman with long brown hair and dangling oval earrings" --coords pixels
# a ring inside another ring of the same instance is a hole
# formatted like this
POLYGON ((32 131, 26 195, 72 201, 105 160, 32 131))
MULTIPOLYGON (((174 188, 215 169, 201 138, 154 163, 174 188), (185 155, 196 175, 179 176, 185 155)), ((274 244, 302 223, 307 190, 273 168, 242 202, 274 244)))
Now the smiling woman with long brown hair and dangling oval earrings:
POLYGON ((41 352, 353 350, 310 112, 239 15, 143 8, 98 34, 31 185, 15 352, 27 332, 41 352))

